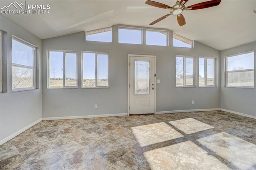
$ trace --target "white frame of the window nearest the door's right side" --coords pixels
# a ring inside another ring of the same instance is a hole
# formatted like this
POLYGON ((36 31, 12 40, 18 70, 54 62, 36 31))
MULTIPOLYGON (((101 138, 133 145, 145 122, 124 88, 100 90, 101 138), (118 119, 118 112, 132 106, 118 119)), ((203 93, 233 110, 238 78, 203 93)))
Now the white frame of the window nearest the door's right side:
MULTIPOLYGON (((195 87, 196 86, 196 78, 195 78, 195 65, 196 65, 196 57, 193 56, 176 56, 177 57, 183 57, 183 86, 176 86, 176 76, 175 76, 175 86, 180 88, 180 87, 195 87), (193 58, 193 85, 188 86, 186 85, 186 58, 193 58)), ((175 58, 175 59, 176 59, 175 58)), ((176 60, 175 60, 176 61, 176 60)), ((175 75, 176 75, 176 62, 175 62, 175 75)))

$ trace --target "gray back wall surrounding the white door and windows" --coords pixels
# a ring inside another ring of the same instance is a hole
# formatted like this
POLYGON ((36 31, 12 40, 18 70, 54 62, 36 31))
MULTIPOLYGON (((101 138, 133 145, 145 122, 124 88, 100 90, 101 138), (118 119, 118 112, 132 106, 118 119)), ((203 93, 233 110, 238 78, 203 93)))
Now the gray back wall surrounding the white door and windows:
MULTIPOLYGON (((152 29, 152 28, 151 28, 152 29)), ((113 42, 86 42, 85 32, 78 32, 42 40, 42 117, 86 116, 127 113, 127 63, 128 54, 156 55, 156 111, 220 108, 220 88, 176 88, 176 55, 218 58, 220 52, 194 42, 194 48, 148 46, 118 43, 118 26, 113 26, 113 42), (78 89, 47 89, 46 51, 75 50, 78 52, 78 89), (110 88, 81 89, 81 51, 109 52, 110 88), (191 104, 194 100, 195 104, 191 104), (98 104, 98 109, 94 109, 98 104)), ((196 61, 197 61, 196 60, 196 61)), ((219 67, 217 68, 219 70, 219 67)), ((198 69, 196 69, 198 73, 198 69)), ((217 71, 218 82, 220 82, 217 71)))

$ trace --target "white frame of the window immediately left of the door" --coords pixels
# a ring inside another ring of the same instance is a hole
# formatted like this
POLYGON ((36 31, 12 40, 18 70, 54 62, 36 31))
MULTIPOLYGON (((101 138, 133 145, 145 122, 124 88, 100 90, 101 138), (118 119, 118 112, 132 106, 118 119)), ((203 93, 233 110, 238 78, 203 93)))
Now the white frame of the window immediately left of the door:
POLYGON ((109 52, 92 52, 92 51, 82 51, 81 53, 81 87, 82 88, 109 88, 110 87, 110 80, 109 80, 109 52), (83 53, 91 53, 91 54, 95 54, 95 87, 83 87, 83 82, 84 82, 84 57, 83 57, 83 53), (97 64, 97 57, 98 54, 104 54, 104 55, 108 55, 108 86, 97 86, 98 84, 98 64, 97 64))

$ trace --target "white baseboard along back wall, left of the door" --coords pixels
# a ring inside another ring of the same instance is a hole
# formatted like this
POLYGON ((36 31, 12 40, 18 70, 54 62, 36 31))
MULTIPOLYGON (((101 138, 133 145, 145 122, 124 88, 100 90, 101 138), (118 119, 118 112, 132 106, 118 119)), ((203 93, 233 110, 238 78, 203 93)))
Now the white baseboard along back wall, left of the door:
POLYGON ((127 116, 127 115, 128 115, 127 113, 118 113, 118 114, 98 114, 98 115, 88 115, 88 116, 50 117, 50 118, 42 118, 42 120, 84 119, 84 118, 101 118, 101 117, 127 116))

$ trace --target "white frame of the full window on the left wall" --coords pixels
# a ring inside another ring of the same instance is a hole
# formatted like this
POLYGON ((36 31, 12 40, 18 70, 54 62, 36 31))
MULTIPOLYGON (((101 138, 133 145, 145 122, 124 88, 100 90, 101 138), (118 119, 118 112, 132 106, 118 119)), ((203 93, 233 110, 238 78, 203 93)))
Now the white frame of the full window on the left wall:
POLYGON ((29 87, 29 88, 12 88, 12 92, 19 92, 19 91, 26 91, 26 90, 34 90, 36 89, 36 46, 16 37, 16 36, 12 36, 12 40, 18 41, 26 46, 30 46, 31 48, 33 48, 33 66, 25 66, 25 65, 21 65, 21 64, 15 64, 12 63, 12 66, 14 67, 20 67, 20 68, 29 68, 34 70, 34 75, 33 75, 33 87, 29 87))

